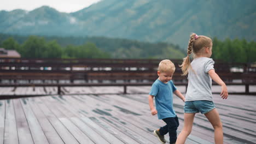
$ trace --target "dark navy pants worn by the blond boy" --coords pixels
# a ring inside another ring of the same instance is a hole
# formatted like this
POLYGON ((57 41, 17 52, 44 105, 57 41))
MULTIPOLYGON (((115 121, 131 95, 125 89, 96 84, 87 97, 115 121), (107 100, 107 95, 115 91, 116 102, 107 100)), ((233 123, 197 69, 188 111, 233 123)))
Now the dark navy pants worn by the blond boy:
POLYGON ((178 117, 167 117, 162 119, 166 123, 164 127, 161 127, 159 132, 161 135, 169 133, 170 143, 176 142, 177 140, 177 129, 179 127, 178 117))

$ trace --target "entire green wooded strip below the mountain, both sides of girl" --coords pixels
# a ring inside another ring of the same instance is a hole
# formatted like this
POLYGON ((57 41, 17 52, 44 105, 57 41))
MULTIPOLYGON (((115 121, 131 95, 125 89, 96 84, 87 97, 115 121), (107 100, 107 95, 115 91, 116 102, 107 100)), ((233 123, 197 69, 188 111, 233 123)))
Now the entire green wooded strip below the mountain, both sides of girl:
MULTIPOLYGON (((170 58, 187 51, 167 43, 145 43, 106 37, 38 37, 0 34, 0 47, 17 50, 27 58, 170 58)), ((212 58, 229 63, 256 62, 256 42, 213 38, 212 58)))

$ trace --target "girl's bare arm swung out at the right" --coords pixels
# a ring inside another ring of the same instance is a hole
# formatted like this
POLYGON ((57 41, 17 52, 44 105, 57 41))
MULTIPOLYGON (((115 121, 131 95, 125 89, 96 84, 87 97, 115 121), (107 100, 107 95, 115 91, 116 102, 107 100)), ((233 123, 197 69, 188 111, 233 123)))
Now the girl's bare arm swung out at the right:
POLYGON ((223 99, 227 99, 228 98, 228 88, 226 88, 226 84, 222 81, 222 79, 220 79, 220 77, 218 76, 218 74, 215 73, 214 69, 211 69, 208 71, 208 74, 210 75, 210 77, 212 78, 213 81, 215 81, 216 83, 218 83, 218 85, 222 86, 222 92, 220 93, 220 96, 223 99))

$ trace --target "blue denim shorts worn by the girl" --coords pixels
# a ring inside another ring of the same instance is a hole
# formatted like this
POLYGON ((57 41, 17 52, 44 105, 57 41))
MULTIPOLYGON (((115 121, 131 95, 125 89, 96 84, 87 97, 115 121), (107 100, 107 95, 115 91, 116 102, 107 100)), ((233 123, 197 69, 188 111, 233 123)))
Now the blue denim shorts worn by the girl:
POLYGON ((195 101, 185 101, 184 113, 198 113, 201 112, 205 114, 210 112, 215 108, 212 101, 208 100, 195 100, 195 101))

